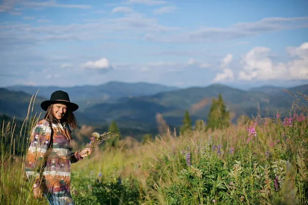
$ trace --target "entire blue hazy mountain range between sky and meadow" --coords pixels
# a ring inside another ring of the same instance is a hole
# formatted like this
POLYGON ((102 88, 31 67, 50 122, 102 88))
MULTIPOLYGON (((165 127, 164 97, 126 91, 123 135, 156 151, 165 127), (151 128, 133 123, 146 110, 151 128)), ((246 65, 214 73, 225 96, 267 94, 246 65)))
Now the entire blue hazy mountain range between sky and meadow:
MULTIPOLYGON (((284 88, 308 94, 308 85, 284 88)), ((24 118, 29 101, 38 90, 34 112, 41 112, 40 103, 56 90, 69 93, 71 101, 80 105, 75 112, 80 124, 103 127, 115 120, 121 128, 150 130, 156 127, 156 114, 161 113, 167 124, 179 127, 185 110, 191 121, 206 121, 211 101, 221 93, 230 116, 235 121, 240 115, 273 117, 278 111, 288 116, 293 98, 278 87, 259 87, 247 91, 224 85, 180 89, 158 84, 121 83, 112 81, 99 86, 33 87, 11 86, 0 88, 0 114, 24 118)))

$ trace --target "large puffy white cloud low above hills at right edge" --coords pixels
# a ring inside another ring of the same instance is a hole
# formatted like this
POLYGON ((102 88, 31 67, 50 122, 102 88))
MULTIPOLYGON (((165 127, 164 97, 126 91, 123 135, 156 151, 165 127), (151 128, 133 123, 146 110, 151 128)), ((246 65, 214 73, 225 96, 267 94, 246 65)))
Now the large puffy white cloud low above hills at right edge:
POLYGON ((287 48, 294 59, 286 63, 274 63, 270 57, 271 49, 256 47, 247 52, 241 60, 243 70, 239 72, 242 80, 300 80, 308 79, 308 43, 299 47, 287 48))

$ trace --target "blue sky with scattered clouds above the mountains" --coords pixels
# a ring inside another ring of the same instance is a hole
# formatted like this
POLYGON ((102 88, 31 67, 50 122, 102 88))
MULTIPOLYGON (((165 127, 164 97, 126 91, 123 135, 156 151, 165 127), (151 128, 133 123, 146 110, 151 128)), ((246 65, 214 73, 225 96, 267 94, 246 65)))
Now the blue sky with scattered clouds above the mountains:
POLYGON ((0 87, 308 83, 308 1, 0 3, 0 87))

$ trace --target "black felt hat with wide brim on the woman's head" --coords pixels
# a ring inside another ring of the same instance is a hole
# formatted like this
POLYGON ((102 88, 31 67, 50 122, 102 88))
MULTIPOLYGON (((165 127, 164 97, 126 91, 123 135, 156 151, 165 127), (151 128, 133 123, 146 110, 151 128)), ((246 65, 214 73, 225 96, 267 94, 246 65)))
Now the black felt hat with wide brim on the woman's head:
POLYGON ((63 103, 73 112, 79 108, 77 104, 71 103, 67 92, 62 90, 55 91, 51 94, 50 100, 45 100, 41 103, 41 108, 47 110, 51 104, 63 103))

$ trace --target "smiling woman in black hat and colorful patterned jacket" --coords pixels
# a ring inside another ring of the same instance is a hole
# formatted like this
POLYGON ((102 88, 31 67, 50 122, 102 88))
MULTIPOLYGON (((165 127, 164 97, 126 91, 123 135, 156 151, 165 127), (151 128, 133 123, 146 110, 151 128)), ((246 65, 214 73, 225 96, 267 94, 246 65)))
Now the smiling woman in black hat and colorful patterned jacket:
POLYGON ((70 164, 83 159, 92 150, 71 152, 72 129, 77 127, 73 112, 78 105, 71 103, 64 91, 55 91, 50 100, 43 101, 46 111, 31 133, 25 170, 27 177, 35 177, 33 194, 49 204, 74 204, 70 194, 70 164))

